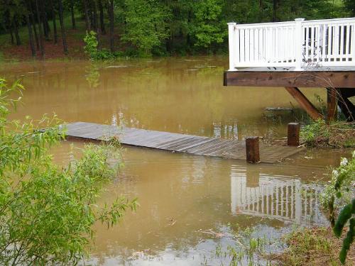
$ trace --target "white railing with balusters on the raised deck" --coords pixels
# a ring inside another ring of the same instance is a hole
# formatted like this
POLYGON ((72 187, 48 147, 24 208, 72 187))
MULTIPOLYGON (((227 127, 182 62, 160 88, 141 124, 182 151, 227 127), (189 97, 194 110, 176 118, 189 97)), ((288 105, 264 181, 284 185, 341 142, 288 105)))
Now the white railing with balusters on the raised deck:
POLYGON ((229 71, 239 67, 355 66, 355 18, 229 27, 229 71))

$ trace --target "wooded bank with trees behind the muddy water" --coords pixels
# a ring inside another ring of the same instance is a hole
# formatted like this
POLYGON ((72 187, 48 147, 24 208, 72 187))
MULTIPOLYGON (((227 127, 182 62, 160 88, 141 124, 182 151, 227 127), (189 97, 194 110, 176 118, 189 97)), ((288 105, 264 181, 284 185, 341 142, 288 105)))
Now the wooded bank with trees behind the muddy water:
POLYGON ((351 16, 354 0, 0 0, 0 51, 75 56, 94 31, 117 56, 222 54, 227 22, 351 16))

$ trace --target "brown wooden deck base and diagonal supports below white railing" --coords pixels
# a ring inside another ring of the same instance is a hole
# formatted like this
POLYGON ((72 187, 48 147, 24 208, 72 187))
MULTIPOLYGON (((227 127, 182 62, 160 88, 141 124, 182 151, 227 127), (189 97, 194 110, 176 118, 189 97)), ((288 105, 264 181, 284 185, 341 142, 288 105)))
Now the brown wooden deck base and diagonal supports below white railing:
POLYGON ((355 67, 308 67, 305 71, 285 70, 283 67, 244 68, 224 72, 224 86, 285 87, 313 119, 323 118, 320 111, 302 94, 298 87, 327 89, 327 120, 334 119, 337 105, 349 121, 355 121, 355 67))

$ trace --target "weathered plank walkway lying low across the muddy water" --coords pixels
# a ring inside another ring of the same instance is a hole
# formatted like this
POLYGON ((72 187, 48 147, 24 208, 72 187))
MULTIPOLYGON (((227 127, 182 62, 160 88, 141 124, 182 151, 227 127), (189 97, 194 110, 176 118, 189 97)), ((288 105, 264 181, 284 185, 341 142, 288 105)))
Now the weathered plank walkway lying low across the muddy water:
MULTIPOLYGON (((87 140, 105 140, 116 136, 121 144, 142 148, 168 150, 192 155, 246 160, 245 141, 207 138, 138 128, 117 128, 97 123, 75 122, 66 125, 67 137, 87 140)), ((271 145, 261 141, 261 162, 275 163, 295 155, 304 148, 271 145)))

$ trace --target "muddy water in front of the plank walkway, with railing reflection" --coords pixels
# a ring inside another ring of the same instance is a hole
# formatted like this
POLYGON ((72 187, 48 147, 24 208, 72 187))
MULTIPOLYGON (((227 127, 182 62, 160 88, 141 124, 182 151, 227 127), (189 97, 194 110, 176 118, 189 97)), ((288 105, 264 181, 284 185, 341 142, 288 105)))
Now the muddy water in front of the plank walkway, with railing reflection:
POLYGON ((272 240, 293 224, 327 224, 313 190, 320 187, 308 183, 324 167, 312 173, 305 166, 300 178, 298 165, 246 165, 139 148, 126 150, 125 162, 124 177, 102 200, 124 193, 138 196, 141 206, 113 230, 97 225, 92 255, 103 265, 200 265, 205 258, 220 265, 215 250, 235 245, 239 226, 272 240))

